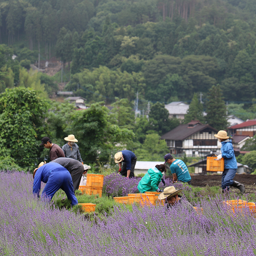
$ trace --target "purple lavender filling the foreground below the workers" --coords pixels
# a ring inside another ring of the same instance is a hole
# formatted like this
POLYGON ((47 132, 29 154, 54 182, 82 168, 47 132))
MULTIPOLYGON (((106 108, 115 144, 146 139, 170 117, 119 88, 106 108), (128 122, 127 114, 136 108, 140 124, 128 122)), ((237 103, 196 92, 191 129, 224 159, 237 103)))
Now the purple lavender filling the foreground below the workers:
POLYGON ((0 255, 256 255, 255 218, 231 212, 220 194, 194 203, 203 214, 133 205, 91 221, 33 197, 32 174, 0 180, 0 255))

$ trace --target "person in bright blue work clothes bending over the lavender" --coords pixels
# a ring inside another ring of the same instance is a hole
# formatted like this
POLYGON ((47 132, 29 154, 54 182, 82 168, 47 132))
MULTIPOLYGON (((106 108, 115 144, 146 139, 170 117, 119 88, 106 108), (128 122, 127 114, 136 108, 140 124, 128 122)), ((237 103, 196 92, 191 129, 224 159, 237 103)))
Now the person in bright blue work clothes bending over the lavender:
POLYGON ((48 163, 36 168, 33 173, 33 194, 39 198, 41 181, 46 183, 42 192, 43 197, 52 200, 54 194, 61 188, 71 200, 71 205, 78 204, 74 194, 73 182, 70 173, 58 163, 48 163))

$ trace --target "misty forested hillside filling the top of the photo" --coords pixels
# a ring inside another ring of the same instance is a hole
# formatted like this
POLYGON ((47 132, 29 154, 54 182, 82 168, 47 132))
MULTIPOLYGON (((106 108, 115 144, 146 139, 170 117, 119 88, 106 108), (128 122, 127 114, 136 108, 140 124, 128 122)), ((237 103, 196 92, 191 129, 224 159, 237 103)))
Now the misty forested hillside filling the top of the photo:
POLYGON ((72 61, 66 89, 85 98, 134 99, 139 91, 146 100, 189 102, 217 83, 224 100, 255 96, 255 1, 0 2, 1 43, 18 56, 27 46, 72 61))

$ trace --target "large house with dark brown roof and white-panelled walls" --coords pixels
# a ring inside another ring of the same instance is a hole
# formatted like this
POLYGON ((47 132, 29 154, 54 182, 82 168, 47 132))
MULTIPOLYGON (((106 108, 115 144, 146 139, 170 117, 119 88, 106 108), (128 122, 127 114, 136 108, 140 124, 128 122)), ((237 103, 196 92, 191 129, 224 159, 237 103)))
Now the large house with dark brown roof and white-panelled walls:
POLYGON ((162 135, 161 139, 166 141, 171 154, 202 156, 220 149, 221 143, 214 137, 217 132, 209 124, 193 120, 188 124, 180 124, 162 135))

